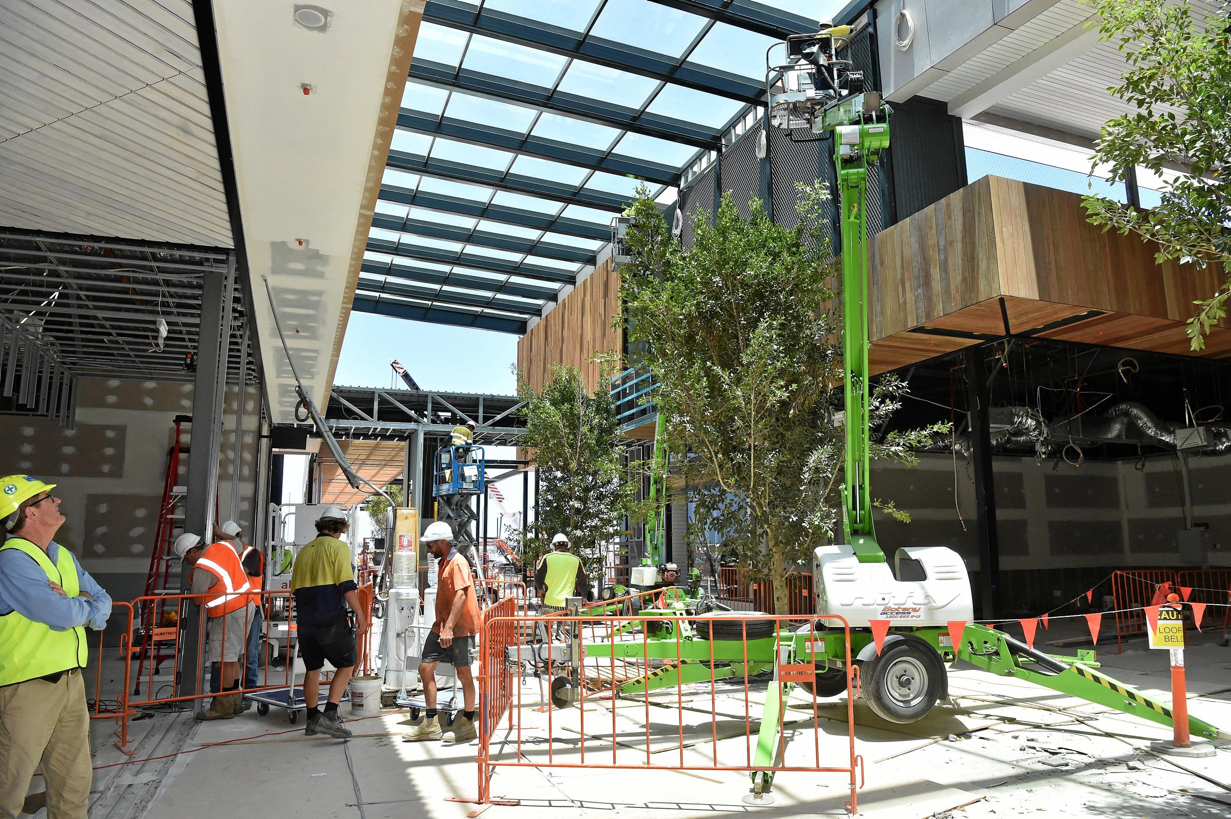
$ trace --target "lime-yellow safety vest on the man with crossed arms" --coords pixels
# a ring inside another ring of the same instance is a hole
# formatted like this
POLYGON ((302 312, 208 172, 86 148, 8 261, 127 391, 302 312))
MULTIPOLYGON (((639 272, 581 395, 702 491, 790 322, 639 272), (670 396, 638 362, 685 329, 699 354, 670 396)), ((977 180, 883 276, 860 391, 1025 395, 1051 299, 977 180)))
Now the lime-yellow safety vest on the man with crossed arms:
MULTIPOLYGON (((75 598, 81 592, 76 561, 63 546, 55 555, 54 564, 42 548, 25 537, 10 537, 0 546, 0 550, 6 548, 28 555, 47 573, 49 582, 60 584, 65 596, 75 598)), ((0 686, 85 668, 90 655, 82 626, 53 631, 47 623, 16 611, 0 617, 0 646, 4 647, 0 649, 0 686)))

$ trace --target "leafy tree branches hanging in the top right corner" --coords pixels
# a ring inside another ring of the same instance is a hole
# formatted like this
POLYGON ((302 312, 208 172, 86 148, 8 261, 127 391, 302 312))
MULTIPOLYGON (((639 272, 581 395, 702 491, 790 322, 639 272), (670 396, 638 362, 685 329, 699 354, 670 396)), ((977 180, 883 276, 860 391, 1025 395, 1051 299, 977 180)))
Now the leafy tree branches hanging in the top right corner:
MULTIPOLYGON (((1105 197, 1086 197, 1088 219, 1104 230, 1135 234, 1158 245, 1156 259, 1231 271, 1231 191, 1222 175, 1231 157, 1231 25, 1227 11, 1197 15, 1187 2, 1094 0, 1099 38, 1128 61, 1120 85, 1108 89, 1134 111, 1103 125, 1094 165, 1124 181, 1133 167, 1181 170, 1162 203, 1136 210, 1105 197)), ((1193 349, 1226 316, 1231 279, 1188 322, 1193 349)))

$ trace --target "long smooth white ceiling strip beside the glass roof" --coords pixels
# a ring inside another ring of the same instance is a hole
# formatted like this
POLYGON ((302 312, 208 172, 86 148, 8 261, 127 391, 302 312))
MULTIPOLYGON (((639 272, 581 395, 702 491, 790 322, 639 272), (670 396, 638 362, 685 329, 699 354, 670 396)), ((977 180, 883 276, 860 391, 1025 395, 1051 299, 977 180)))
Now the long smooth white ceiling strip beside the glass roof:
POLYGON ((262 277, 324 410, 422 0, 213 7, 270 408, 288 423, 298 398, 262 277))

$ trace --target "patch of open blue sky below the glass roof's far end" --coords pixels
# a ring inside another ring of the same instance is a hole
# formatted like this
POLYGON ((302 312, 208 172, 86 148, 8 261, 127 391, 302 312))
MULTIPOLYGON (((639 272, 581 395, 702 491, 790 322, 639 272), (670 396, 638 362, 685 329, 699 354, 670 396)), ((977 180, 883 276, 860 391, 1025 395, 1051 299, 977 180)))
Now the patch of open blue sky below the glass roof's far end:
POLYGON ((334 384, 388 387, 390 358, 425 390, 517 392, 517 336, 366 312, 351 314, 334 384))

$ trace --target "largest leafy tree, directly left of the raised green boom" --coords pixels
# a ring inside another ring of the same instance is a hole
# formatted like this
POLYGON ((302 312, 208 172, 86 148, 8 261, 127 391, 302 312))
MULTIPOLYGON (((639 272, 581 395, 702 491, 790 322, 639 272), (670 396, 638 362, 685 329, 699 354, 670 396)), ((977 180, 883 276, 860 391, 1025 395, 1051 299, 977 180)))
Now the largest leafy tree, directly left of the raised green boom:
MULTIPOLYGON (((633 261, 620 269, 629 348, 659 384, 654 402, 696 529, 716 530, 728 555, 768 574, 780 612, 787 576, 838 535, 842 327, 817 218, 828 198, 822 184, 801 187, 801 223, 787 229, 760 200, 742 218, 724 197, 713 225, 696 215, 683 247, 643 191, 629 210, 633 261)), ((896 379, 878 382, 874 427, 904 391, 896 379)), ((910 448, 931 432, 890 433, 872 455, 915 462, 910 448)))

